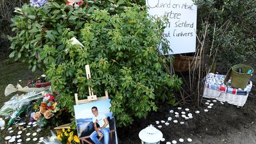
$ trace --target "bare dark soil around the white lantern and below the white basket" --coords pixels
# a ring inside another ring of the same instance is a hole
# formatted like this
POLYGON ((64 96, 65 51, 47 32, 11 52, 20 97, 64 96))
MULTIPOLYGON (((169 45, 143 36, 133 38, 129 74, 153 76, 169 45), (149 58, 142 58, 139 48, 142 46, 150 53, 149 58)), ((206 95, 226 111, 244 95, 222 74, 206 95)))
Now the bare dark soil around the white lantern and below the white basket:
POLYGON ((149 114, 147 119, 136 119, 131 126, 118 128, 119 143, 141 143, 139 139, 139 132, 145 129, 149 124, 155 127, 162 125, 161 132, 164 135, 165 141, 161 143, 172 142, 176 140, 177 143, 180 138, 184 139, 183 143, 256 143, 256 89, 255 81, 256 76, 251 78, 253 87, 247 102, 244 107, 237 107, 228 103, 221 104, 219 101, 213 103, 213 99, 203 98, 199 108, 185 107, 182 110, 171 108, 170 105, 164 105, 156 113, 149 114), (207 108, 206 101, 211 100, 213 103, 212 108, 208 108, 207 113, 204 109, 207 108), (189 108, 189 111, 185 111, 189 108), (180 113, 180 117, 175 118, 175 114, 169 113, 169 110, 174 110, 180 113), (199 110, 200 113, 196 114, 195 111, 199 110), (193 114, 193 119, 184 120, 181 117, 181 111, 193 114), (172 117, 169 121, 169 126, 165 124, 156 124, 155 121, 165 120, 172 117), (178 120, 174 123, 173 120, 178 120), (180 121, 184 121, 183 125, 180 121), (188 142, 187 138, 193 141, 188 142))

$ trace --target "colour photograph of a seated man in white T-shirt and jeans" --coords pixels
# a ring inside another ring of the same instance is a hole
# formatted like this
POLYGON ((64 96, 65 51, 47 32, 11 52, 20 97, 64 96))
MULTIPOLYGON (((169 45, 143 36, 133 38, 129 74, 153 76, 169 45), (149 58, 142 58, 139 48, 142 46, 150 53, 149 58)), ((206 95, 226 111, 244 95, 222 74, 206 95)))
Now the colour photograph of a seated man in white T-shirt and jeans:
POLYGON ((74 105, 78 137, 84 143, 118 143, 110 100, 74 105))

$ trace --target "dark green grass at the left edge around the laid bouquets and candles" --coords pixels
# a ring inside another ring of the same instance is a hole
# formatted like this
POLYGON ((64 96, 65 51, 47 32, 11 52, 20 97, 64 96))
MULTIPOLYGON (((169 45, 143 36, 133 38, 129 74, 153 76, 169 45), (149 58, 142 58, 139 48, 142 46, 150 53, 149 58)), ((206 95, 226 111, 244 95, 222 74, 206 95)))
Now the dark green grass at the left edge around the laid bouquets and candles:
MULTIPOLYGON (((25 87, 28 79, 35 79, 38 78, 43 72, 41 71, 36 71, 36 72, 31 72, 31 70, 28 69, 28 66, 26 63, 20 63, 20 62, 14 62, 11 59, 8 60, 2 60, 0 62, 0 107, 4 105, 6 101, 8 101, 13 95, 17 94, 17 92, 10 94, 9 96, 5 97, 4 91, 5 87, 7 87, 8 84, 13 84, 14 86, 17 85, 18 81, 21 79, 22 82, 20 83, 23 87, 25 87)), ((20 94, 20 92, 19 92, 20 94)), ((28 120, 25 121, 28 123, 28 120)), ((8 120, 5 120, 5 127, 8 127, 8 120)), ((0 131, 0 143, 4 143, 4 137, 5 136, 17 136, 18 127, 15 125, 11 126, 14 132, 12 134, 9 134, 9 131, 7 129, 1 130, 0 131)), ((46 138, 47 136, 50 135, 50 129, 53 129, 52 127, 46 127, 42 129, 40 132, 37 132, 36 136, 32 136, 32 133, 36 132, 36 129, 31 129, 28 128, 23 131, 21 134, 21 139, 23 140, 23 143, 37 143, 39 140, 36 142, 33 142, 33 138, 37 137, 44 137, 46 138), (31 136, 26 136, 25 133, 31 133, 31 136), (25 139, 27 137, 30 137, 31 140, 29 142, 26 142, 25 139)))

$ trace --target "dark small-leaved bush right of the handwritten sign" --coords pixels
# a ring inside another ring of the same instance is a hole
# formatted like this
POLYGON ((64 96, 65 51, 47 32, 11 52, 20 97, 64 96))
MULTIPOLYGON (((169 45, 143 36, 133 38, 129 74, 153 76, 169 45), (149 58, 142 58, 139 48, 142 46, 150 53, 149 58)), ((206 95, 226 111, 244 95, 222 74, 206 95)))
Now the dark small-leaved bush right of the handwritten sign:
MULTIPOLYGON (((212 59, 229 68, 247 62, 251 56, 255 56, 255 1, 196 2, 199 5, 198 25, 205 22, 210 24, 206 50, 216 54, 212 59)), ((203 26, 197 28, 199 33, 202 28, 203 26)))

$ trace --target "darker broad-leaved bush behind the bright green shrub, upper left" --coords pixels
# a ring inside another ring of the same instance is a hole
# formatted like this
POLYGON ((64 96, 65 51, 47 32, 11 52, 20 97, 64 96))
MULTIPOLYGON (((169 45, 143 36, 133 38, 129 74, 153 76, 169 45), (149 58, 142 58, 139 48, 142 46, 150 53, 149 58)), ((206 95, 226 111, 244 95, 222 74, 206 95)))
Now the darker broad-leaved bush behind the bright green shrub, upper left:
MULTIPOLYGON (((17 15, 12 18, 12 31, 16 36, 10 37, 12 53, 9 57, 15 60, 28 60, 29 68, 34 71, 37 67, 45 68, 44 63, 52 62, 53 57, 40 57, 44 44, 53 44, 56 50, 62 50, 68 30, 78 34, 82 25, 88 20, 94 9, 106 9, 111 14, 117 14, 132 4, 130 1, 85 1, 83 7, 73 8, 63 2, 47 2, 44 7, 34 8, 24 4, 22 8, 15 8, 17 15)), ((142 4, 142 3, 139 3, 142 4)), ((52 51, 49 50, 48 53, 52 51)))

